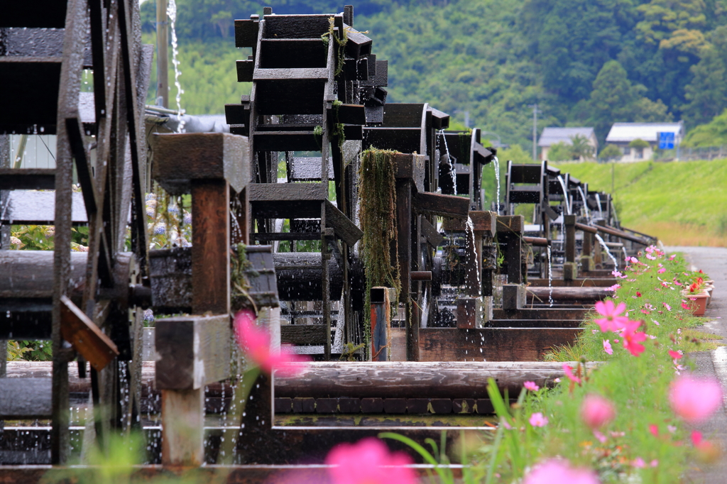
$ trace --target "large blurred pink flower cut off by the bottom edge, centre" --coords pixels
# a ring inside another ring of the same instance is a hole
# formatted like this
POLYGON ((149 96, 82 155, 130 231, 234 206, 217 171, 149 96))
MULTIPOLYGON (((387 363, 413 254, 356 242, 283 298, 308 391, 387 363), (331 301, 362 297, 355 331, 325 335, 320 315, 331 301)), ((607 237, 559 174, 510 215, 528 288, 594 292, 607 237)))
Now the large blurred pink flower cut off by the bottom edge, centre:
POLYGON ((336 445, 326 456, 331 484, 416 484, 414 464, 403 452, 390 453, 376 437, 336 445))

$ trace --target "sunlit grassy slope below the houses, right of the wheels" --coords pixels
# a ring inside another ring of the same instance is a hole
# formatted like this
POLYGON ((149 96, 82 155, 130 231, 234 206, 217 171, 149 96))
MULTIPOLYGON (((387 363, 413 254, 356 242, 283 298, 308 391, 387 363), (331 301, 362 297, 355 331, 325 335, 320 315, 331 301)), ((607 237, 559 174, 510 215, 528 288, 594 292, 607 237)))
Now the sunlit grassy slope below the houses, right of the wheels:
POLYGON ((558 167, 588 182, 592 190, 613 193, 626 227, 669 245, 727 246, 727 160, 558 167))

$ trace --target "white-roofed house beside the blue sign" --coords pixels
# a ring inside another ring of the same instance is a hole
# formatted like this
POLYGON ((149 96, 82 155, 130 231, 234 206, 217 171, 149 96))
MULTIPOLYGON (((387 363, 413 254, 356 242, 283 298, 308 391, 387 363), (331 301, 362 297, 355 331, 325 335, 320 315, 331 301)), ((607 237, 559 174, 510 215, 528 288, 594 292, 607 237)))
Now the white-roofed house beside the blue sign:
POLYGON ((623 153, 621 161, 649 160, 659 147, 659 133, 673 133, 676 147, 684 138, 684 123, 614 123, 606 143, 619 147, 623 153), (630 147, 634 140, 646 141, 648 147, 630 147))

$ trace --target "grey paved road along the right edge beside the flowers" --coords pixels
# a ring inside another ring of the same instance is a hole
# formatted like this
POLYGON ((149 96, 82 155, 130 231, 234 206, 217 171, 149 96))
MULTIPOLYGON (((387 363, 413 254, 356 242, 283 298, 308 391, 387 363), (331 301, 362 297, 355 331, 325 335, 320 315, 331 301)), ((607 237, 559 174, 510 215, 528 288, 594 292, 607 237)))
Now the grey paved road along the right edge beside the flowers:
MULTIPOLYGON (((724 247, 667 247, 668 252, 682 252, 688 262, 697 269, 704 270, 715 281, 712 302, 704 316, 710 318, 703 330, 723 336, 727 344, 727 249, 724 247)), ((702 328, 700 328, 702 329, 702 328)), ((695 361, 694 373, 713 375, 720 379, 727 394, 727 347, 713 351, 697 352, 690 355, 695 361)), ((694 471, 686 476, 687 483, 725 484, 727 483, 727 407, 723 403, 721 411, 699 430, 708 438, 718 441, 725 452, 717 464, 694 464, 694 471)))

